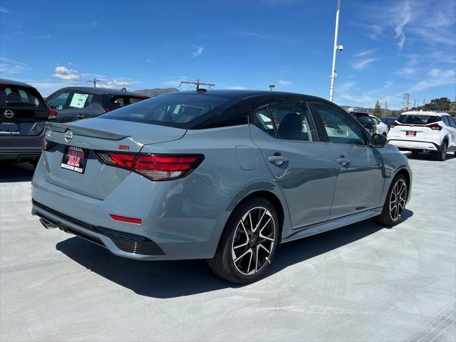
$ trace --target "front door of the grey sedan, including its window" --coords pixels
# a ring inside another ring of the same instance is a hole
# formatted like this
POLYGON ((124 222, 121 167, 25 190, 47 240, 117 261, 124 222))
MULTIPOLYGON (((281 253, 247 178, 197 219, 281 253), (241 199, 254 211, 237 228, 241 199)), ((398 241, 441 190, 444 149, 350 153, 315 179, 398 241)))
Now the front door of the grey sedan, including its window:
POLYGON ((333 160, 338 165, 331 219, 381 206, 383 159, 368 146, 368 133, 350 115, 326 103, 314 103, 333 160))

